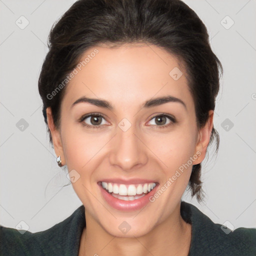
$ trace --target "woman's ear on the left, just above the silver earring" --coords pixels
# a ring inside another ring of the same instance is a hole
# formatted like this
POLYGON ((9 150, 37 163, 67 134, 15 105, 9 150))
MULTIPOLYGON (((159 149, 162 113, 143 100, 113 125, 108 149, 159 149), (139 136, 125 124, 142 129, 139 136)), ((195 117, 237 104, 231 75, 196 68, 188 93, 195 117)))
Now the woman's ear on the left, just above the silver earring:
POLYGON ((65 158, 64 158, 64 152, 63 152, 63 147, 62 147, 60 131, 56 128, 56 126, 53 122, 53 117, 52 117, 52 112, 51 112, 50 107, 46 108, 46 115, 47 115, 47 123, 48 123, 48 127, 49 127, 50 134, 52 137, 52 143, 53 143, 55 154, 56 154, 56 156, 60 155, 61 164, 65 165, 65 158))

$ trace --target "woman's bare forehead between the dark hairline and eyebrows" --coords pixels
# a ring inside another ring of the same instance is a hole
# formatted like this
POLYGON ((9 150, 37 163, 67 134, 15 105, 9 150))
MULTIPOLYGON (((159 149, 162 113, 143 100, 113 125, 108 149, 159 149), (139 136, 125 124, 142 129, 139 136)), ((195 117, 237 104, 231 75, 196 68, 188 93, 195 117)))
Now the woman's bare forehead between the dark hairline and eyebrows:
POLYGON ((188 105, 192 100, 178 59, 155 45, 91 47, 81 55, 75 70, 63 98, 68 105, 80 96, 127 106, 163 95, 182 98, 188 105))

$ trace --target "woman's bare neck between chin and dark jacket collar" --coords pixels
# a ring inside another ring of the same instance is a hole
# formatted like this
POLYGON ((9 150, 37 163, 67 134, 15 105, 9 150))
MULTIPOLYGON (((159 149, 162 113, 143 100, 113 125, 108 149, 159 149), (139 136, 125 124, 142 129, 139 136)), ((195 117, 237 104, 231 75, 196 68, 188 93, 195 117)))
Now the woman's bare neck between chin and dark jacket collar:
POLYGON ((191 241, 191 225, 180 215, 180 203, 174 212, 149 233, 139 237, 117 237, 106 232, 85 211, 86 228, 84 228, 79 256, 84 255, 122 255, 187 256, 191 241), (153 242, 152 242, 153 241, 153 242))

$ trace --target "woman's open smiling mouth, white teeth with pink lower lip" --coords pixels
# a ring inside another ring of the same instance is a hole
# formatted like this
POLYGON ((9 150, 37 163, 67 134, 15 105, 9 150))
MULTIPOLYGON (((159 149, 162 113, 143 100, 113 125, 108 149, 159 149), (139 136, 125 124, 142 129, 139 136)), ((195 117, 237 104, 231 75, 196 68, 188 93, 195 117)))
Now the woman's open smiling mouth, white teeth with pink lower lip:
POLYGON ((135 210, 149 202, 149 196, 159 185, 158 182, 122 184, 107 181, 97 182, 105 201, 119 210, 135 210))

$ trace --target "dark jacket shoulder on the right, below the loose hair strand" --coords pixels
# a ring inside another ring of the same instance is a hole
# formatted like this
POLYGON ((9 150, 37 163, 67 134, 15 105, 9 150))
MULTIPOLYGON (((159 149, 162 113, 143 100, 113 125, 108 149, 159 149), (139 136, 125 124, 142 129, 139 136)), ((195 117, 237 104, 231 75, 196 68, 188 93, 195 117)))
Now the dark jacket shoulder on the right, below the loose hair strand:
POLYGON ((186 202, 181 202, 181 214, 192 225, 189 256, 256 255, 256 228, 239 227, 231 231, 213 223, 197 207, 186 202))

